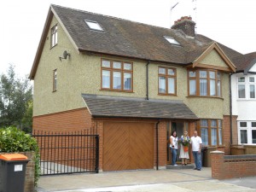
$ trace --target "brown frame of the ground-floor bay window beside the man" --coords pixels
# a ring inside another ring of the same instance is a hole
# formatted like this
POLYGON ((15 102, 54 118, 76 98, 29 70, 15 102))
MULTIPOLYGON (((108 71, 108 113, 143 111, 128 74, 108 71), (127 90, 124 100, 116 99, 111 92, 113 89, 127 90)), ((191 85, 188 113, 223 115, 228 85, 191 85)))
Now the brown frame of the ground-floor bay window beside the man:
MULTIPOLYGON (((204 146, 208 146, 208 147, 212 147, 212 146, 223 147, 224 146, 223 119, 200 119, 197 122, 197 127, 198 127, 198 132, 199 132, 200 137, 201 137, 201 128, 207 128, 208 144, 204 145, 204 146), (207 127, 206 126, 201 127, 201 120, 207 120, 207 127), (214 127, 212 126, 212 120, 216 121, 217 126, 214 126, 214 127), (212 129, 216 129, 216 133, 217 133, 217 137, 216 137, 217 144, 216 145, 212 145, 212 129), (219 138, 219 129, 221 129, 221 138, 222 138, 221 144, 219 144, 219 139, 220 139, 219 138)), ((202 142, 204 143, 204 141, 202 141, 202 142)))

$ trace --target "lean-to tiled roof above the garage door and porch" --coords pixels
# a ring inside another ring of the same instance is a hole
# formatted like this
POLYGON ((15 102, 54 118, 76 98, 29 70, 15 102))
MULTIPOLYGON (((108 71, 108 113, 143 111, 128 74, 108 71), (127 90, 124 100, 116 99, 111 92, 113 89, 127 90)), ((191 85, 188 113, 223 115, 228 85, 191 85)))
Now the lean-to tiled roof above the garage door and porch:
POLYGON ((82 94, 93 117, 198 119, 181 101, 82 94))

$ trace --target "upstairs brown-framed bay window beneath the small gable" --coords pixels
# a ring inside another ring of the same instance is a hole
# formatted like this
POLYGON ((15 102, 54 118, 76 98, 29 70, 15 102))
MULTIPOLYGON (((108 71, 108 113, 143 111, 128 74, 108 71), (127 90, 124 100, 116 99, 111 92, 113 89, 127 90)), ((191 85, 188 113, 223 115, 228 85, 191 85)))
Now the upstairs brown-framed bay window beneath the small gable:
POLYGON ((216 70, 195 70, 188 72, 189 96, 221 96, 221 75, 216 70))

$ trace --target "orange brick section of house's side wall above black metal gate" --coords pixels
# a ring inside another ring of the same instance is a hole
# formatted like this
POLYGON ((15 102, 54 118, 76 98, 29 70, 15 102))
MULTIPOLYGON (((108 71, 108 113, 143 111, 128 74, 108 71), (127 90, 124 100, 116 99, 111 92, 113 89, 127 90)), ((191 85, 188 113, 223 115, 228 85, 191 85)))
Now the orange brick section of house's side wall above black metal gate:
POLYGON ((87 108, 33 117, 33 131, 80 131, 91 126, 87 108))

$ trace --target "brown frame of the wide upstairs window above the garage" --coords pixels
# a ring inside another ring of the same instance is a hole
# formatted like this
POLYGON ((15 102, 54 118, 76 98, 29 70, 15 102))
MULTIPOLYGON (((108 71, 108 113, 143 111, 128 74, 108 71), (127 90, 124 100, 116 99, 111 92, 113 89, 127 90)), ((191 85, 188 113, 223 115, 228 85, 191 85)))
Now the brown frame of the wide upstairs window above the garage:
POLYGON ((112 60, 112 59, 106 59, 102 58, 101 59, 101 90, 110 90, 110 91, 119 91, 119 92, 133 92, 133 62, 131 61, 119 61, 119 60, 112 60), (102 67, 102 62, 103 61, 109 61, 110 62, 110 67, 102 67), (114 68, 113 67, 113 62, 120 62, 121 63, 121 68, 114 68), (131 64, 131 70, 125 69, 125 63, 131 64), (109 88, 103 88, 102 87, 102 72, 103 71, 109 71, 110 73, 110 86, 109 88), (119 72, 121 73, 121 88, 120 89, 113 89, 113 73, 114 72, 119 72), (131 73, 131 90, 125 90, 125 73, 131 73))

